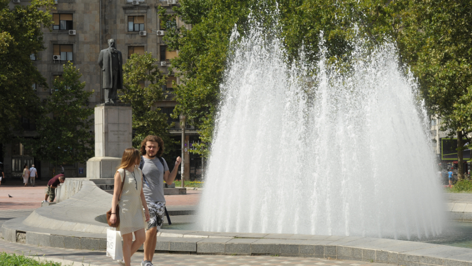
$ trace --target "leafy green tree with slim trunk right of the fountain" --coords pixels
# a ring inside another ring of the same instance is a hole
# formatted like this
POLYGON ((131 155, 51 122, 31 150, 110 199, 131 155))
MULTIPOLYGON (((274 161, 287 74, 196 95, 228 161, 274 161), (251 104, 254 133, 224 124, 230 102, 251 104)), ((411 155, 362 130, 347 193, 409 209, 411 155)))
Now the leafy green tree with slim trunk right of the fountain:
MULTIPOLYGON (((458 178, 462 150, 472 132, 472 3, 467 0, 401 0, 404 25, 398 41, 430 113, 457 136, 458 178), (465 140, 465 141, 464 141, 465 140)), ((468 145, 472 147, 472 145, 468 145)))

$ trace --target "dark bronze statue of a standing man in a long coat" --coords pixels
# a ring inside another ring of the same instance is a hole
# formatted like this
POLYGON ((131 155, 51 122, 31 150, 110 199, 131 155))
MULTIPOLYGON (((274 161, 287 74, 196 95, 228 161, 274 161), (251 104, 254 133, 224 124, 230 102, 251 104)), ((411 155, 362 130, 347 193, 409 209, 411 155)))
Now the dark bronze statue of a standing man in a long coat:
POLYGON ((115 103, 117 90, 123 88, 123 57, 116 50, 116 41, 108 40, 108 49, 100 51, 98 65, 102 70, 102 88, 105 103, 115 103))

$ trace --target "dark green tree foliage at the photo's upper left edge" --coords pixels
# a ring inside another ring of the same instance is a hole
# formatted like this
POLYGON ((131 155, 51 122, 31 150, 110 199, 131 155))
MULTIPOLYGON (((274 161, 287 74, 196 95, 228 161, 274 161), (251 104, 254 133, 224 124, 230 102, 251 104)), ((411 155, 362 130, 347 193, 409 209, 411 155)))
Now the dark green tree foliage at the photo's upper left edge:
POLYGON ((29 58, 44 50, 42 27, 50 27, 52 0, 32 0, 27 6, 0 0, 0 143, 21 131, 20 117, 37 119, 40 104, 33 84, 47 88, 46 80, 29 58))

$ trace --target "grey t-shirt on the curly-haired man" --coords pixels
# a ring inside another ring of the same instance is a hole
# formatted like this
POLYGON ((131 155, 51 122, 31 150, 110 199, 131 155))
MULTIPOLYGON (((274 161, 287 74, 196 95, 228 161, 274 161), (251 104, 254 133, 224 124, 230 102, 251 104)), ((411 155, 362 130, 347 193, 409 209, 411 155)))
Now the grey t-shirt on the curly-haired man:
POLYGON ((164 158, 162 166, 159 158, 144 158, 143 174, 146 177, 147 184, 144 183, 143 192, 146 201, 165 201, 164 198, 164 172, 168 171, 167 163, 164 158))

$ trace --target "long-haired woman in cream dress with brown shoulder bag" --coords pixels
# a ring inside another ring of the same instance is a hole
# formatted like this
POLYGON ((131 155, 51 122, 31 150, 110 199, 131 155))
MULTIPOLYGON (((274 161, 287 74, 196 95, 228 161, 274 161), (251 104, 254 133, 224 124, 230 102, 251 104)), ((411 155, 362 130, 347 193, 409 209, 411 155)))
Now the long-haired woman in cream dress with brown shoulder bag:
POLYGON ((110 221, 112 223, 116 221, 115 210, 118 205, 120 207, 120 225, 116 231, 120 231, 123 238, 123 260, 118 260, 118 263, 122 266, 131 265, 131 256, 146 240, 144 228, 149 220, 149 210, 143 193, 143 173, 138 167, 140 161, 139 150, 127 148, 123 152, 121 164, 115 173, 110 221), (118 202, 122 182, 124 182, 123 191, 118 202))

